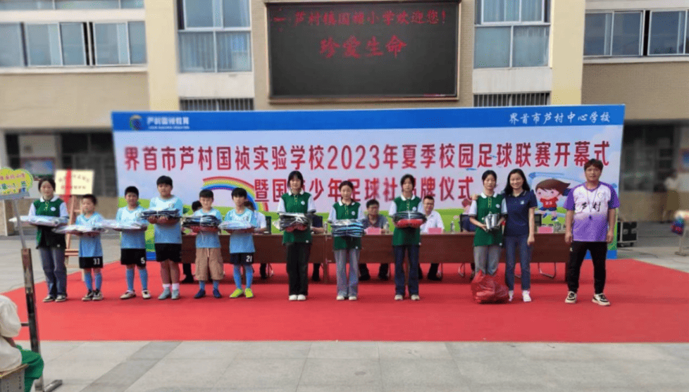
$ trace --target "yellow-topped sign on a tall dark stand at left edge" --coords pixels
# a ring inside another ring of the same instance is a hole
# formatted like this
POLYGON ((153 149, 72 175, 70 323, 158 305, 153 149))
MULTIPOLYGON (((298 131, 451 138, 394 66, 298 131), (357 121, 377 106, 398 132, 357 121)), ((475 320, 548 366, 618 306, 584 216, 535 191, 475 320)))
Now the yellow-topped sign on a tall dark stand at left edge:
MULTIPOLYGON (((17 200, 29 196, 29 189, 33 184, 33 175, 25 169, 13 170, 10 167, 2 167, 0 169, 0 200, 11 200, 14 216, 17 219, 19 229, 19 237, 22 242, 21 258, 22 268, 24 270, 24 292, 26 294, 26 311, 28 322, 22 323, 29 327, 29 336, 31 340, 31 350, 35 353, 41 353, 41 347, 38 339, 38 322, 36 315, 36 292, 34 287, 34 271, 33 263, 31 261, 31 249, 26 247, 26 240, 24 239, 24 230, 22 229, 22 221, 19 217, 19 208, 17 200)), ((43 377, 40 377, 36 382, 36 391, 52 391, 58 386, 62 385, 62 380, 56 380, 44 386, 43 377)))

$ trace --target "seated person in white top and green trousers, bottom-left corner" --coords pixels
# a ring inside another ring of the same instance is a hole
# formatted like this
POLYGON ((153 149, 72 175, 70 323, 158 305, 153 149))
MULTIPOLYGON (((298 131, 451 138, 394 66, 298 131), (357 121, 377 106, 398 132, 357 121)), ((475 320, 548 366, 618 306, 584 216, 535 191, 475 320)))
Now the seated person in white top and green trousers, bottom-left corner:
POLYGON ((17 305, 10 298, 0 296, 0 372, 27 364, 28 367, 24 369, 24 392, 29 392, 34 380, 43 374, 43 359, 40 354, 24 350, 14 343, 13 338, 19 336, 21 328, 17 305))

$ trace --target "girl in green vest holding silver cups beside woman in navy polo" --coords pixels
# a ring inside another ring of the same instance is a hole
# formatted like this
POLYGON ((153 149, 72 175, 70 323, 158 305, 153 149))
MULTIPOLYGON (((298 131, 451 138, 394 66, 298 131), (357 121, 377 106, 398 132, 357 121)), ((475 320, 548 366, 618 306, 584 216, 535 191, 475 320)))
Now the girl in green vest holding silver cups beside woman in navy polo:
MULTIPOLYGON (((502 230, 491 230, 483 223, 483 218, 488 214, 507 213, 502 195, 495 194, 497 175, 492 170, 486 170, 481 176, 483 180, 483 192, 477 200, 471 202, 469 208, 469 220, 476 225, 476 234, 473 236, 473 262, 476 270, 484 274, 495 275, 497 263, 502 251, 502 230)), ((497 227, 502 225, 504 217, 500 217, 497 227)))

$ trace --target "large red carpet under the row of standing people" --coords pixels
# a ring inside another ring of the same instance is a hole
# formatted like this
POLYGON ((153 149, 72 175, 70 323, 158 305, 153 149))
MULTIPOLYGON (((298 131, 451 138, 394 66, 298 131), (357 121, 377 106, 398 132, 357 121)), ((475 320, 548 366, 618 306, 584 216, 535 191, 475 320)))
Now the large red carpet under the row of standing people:
MULTIPOLYGON (((371 267, 375 274, 378 265, 371 267)), ((158 296, 159 266, 151 263, 149 270, 151 293, 158 296)), ((478 305, 471 300, 468 278, 457 276, 456 265, 445 268, 445 274, 443 282, 424 279, 421 301, 414 303, 393 301, 392 282, 378 281, 361 283, 356 302, 335 301, 335 284, 322 283, 309 285, 308 301, 289 302, 284 265, 268 281, 257 279, 251 300, 227 298, 234 289, 228 276, 221 285, 222 299, 194 300, 198 286, 187 284, 179 301, 121 301, 124 268, 113 263, 104 270, 104 301, 80 301, 85 289, 79 274, 72 274, 69 301, 39 303, 39 336, 49 341, 689 342, 689 274, 676 270, 609 260, 609 308, 591 302, 590 262, 582 268, 576 305, 564 303, 564 264, 558 265, 557 279, 533 275, 532 303, 521 302, 517 286, 514 303, 478 305)), ((138 291, 138 275, 136 279, 138 291)), ((45 294, 45 284, 38 284, 37 299, 45 294)), ((25 308, 23 289, 6 295, 25 308)), ((28 339, 27 329, 20 339, 28 339)))

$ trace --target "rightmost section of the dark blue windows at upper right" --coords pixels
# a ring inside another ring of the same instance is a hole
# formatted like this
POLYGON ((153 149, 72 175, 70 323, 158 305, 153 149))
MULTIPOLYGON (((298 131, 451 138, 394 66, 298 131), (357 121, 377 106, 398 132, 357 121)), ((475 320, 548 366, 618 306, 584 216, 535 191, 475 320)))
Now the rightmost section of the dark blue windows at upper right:
POLYGON ((687 11, 652 11, 648 55, 688 53, 686 21, 687 11))

